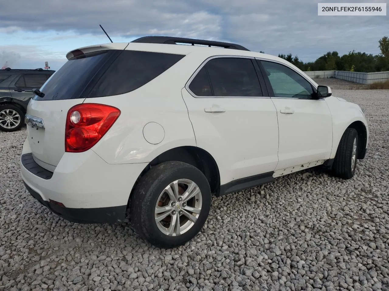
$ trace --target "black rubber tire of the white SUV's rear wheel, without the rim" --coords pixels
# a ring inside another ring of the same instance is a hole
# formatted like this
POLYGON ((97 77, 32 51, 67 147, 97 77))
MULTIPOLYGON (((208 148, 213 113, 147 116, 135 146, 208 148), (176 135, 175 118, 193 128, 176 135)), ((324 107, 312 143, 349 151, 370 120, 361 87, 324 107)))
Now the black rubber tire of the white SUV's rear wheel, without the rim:
POLYGON ((154 246, 175 248, 193 239, 202 229, 209 215, 211 191, 207 178, 198 168, 178 161, 169 161, 152 167, 141 178, 130 203, 130 221, 136 232, 154 246), (202 206, 196 222, 186 232, 178 236, 168 236, 157 226, 155 209, 165 187, 179 179, 189 179, 197 184, 202 196, 202 206))

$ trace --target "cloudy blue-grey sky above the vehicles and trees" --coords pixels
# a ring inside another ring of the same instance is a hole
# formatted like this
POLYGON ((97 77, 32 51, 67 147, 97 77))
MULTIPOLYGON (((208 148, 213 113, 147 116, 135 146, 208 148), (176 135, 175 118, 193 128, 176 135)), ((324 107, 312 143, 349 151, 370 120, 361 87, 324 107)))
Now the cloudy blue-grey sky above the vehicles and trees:
MULTIPOLYGON (((378 54, 387 16, 318 16, 312 0, 0 0, 0 67, 58 69, 68 51, 144 35, 236 42, 314 61, 328 51, 378 54)), ((387 1, 341 1, 381 2, 387 1)), ((387 4, 387 7, 389 5, 387 4)))

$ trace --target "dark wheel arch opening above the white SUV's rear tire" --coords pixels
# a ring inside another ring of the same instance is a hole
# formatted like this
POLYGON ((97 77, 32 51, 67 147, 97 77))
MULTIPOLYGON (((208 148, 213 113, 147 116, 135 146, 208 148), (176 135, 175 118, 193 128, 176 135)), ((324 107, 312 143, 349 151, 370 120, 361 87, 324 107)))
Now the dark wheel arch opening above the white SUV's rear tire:
POLYGON ((169 149, 168 151, 159 154, 144 168, 131 189, 127 207, 130 206, 131 197, 135 187, 139 183, 140 179, 145 175, 145 173, 147 173, 153 166, 167 161, 180 161, 198 168, 207 178, 211 193, 219 196, 220 173, 215 159, 209 152, 200 147, 182 146, 169 149))

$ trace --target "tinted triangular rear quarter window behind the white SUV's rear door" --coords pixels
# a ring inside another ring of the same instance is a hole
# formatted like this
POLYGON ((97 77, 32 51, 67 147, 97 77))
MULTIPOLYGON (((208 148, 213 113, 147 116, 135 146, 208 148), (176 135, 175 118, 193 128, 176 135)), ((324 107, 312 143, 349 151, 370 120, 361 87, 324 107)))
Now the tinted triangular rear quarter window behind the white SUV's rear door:
POLYGON ((98 80, 88 97, 131 92, 153 80, 184 55, 124 50, 98 80))

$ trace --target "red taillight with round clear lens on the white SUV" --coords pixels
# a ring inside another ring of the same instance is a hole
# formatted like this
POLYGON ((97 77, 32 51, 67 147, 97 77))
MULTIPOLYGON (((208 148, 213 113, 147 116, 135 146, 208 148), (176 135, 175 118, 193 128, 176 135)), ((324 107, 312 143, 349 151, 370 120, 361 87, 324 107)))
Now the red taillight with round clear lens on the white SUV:
POLYGON ((95 145, 120 115, 116 107, 83 103, 69 109, 65 126, 65 152, 84 152, 95 145))

